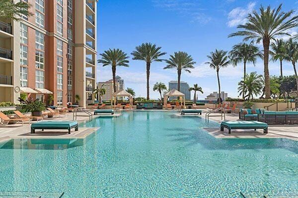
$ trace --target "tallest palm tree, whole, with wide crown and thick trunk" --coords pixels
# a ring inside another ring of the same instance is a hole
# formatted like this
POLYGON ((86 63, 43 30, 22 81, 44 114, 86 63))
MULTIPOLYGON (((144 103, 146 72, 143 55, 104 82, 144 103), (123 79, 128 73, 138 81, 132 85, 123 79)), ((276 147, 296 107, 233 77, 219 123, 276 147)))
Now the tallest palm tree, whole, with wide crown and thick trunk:
POLYGON ((244 25, 237 26, 237 28, 242 29, 241 31, 228 36, 244 36, 244 41, 251 39, 257 43, 263 42, 266 99, 270 99, 270 76, 268 68, 270 40, 276 39, 276 36, 289 35, 287 30, 298 26, 298 15, 292 17, 295 10, 283 12, 281 9, 281 4, 277 9, 272 10, 270 6, 267 9, 261 6, 260 13, 253 11, 248 14, 247 22, 244 25))

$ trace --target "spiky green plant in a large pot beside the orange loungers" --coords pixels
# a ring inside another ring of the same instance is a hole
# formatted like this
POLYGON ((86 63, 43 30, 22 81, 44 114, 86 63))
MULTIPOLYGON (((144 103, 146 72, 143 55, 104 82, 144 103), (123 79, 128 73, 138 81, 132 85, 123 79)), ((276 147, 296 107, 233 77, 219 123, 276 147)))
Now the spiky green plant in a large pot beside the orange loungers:
POLYGON ((23 104, 23 108, 27 112, 31 112, 32 116, 42 116, 42 111, 46 109, 46 104, 39 100, 33 100, 32 98, 30 99, 21 99, 18 98, 18 101, 20 101, 21 104, 23 104))

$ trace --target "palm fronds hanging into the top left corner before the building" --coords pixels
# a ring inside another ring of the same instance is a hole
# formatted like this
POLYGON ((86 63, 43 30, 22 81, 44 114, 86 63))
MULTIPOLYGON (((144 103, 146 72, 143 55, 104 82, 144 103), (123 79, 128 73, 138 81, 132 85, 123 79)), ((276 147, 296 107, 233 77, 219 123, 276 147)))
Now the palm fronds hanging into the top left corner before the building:
POLYGON ((33 13, 28 11, 30 7, 31 4, 24 1, 0 0, 0 18, 19 21, 22 15, 27 17, 33 15, 33 13))

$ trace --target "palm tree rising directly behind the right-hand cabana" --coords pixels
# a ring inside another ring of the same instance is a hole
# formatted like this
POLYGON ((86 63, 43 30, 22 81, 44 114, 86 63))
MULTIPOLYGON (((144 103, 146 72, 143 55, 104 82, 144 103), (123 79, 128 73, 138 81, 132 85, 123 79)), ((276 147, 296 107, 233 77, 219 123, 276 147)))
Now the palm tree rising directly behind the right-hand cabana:
POLYGON ((189 69, 193 69, 194 64, 196 62, 193 60, 191 55, 189 55, 186 52, 178 51, 175 52, 174 55, 170 55, 170 58, 165 60, 167 63, 167 66, 165 66, 163 69, 176 69, 178 73, 178 91, 180 91, 180 78, 181 78, 181 72, 182 70, 191 73, 189 69))

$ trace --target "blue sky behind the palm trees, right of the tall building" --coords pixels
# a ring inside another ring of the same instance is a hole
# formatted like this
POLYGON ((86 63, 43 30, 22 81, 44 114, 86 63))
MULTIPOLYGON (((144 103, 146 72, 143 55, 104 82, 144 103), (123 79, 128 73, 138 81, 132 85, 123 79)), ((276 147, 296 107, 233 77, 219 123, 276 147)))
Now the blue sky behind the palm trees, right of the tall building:
MULTIPOLYGON (((136 46, 151 42, 167 52, 166 59, 174 51, 186 51, 197 62, 191 74, 182 73, 181 80, 190 86, 198 83, 204 99, 218 90, 216 72, 204 62, 215 49, 230 50, 242 38, 227 38, 236 31, 238 24, 245 22, 246 15, 261 4, 277 7, 283 3, 283 10, 297 9, 297 0, 100 0, 97 6, 97 51, 119 48, 130 56, 130 67, 118 67, 117 75, 125 80, 125 87, 133 88, 137 96, 146 96, 146 63, 132 60, 131 52, 136 46)), ((297 29, 290 30, 296 34, 297 29)), ((262 49, 261 45, 258 45, 262 49)), ((98 55, 99 58, 99 55, 98 55)), ((150 70, 150 98, 159 94, 152 91, 155 82, 177 80, 175 70, 163 70, 164 62, 153 62, 150 70)), ((279 63, 270 62, 270 75, 279 74, 279 63)), ((256 66, 249 64, 247 72, 263 74, 263 62, 256 66)), ((290 63, 284 62, 284 75, 293 75, 290 63)), ((243 76, 243 66, 229 66, 220 71, 222 91, 237 98, 237 83, 243 76)), ((110 66, 97 68, 98 81, 112 78, 110 66)))

